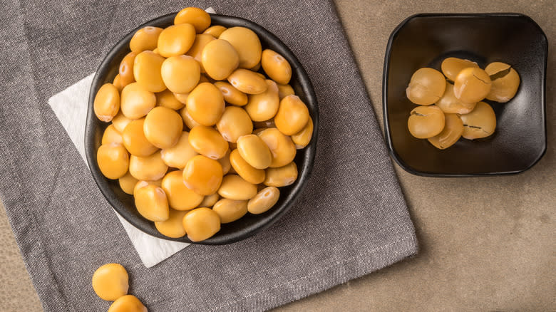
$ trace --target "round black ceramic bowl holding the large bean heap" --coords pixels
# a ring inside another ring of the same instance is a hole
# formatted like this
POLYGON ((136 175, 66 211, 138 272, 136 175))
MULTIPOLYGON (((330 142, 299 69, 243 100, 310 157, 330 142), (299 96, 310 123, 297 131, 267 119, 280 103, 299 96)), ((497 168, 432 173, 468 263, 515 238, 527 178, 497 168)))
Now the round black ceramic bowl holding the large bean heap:
MULTIPOLYGON (((167 27, 173 24, 175 14, 168 14, 165 16, 160 16, 157 19, 148 21, 147 23, 135 28, 133 31, 128 33, 123 37, 116 45, 110 50, 107 56, 98 67, 96 71, 95 78, 93 78, 93 83, 91 85, 91 93, 89 94, 88 103, 88 113, 87 113, 87 123, 85 130, 85 149, 86 156, 89 167, 93 177, 104 194, 108 202, 114 207, 114 209, 128 222, 133 224, 135 227, 141 231, 150 234, 152 236, 159 237, 161 239, 169 239, 173 241, 183 241, 192 242, 187 237, 182 237, 180 239, 171 239, 167 236, 160 234, 155 228, 153 222, 148 221, 140 216, 135 209, 135 204, 133 204, 133 197, 131 195, 125 194, 118 185, 118 180, 108 180, 105 178, 101 171, 98 169, 96 162, 96 150, 101 145, 101 137, 103 131, 108 126, 108 123, 102 123, 99 121, 95 114, 93 113, 93 100, 95 98, 98 88, 104 83, 111 82, 115 75, 118 73, 118 66, 121 59, 129 50, 129 41, 133 36, 133 33, 140 28, 145 26, 158 26, 167 27)), ((226 27, 232 26, 244 26, 252 29, 259 38, 264 48, 271 48, 274 51, 282 54, 286 58, 290 65, 292 66, 292 80, 290 85, 294 88, 299 98, 301 98, 304 103, 307 104, 309 108, 309 113, 313 119, 314 131, 313 137, 309 146, 305 147, 303 150, 297 151, 297 156, 295 157, 295 162, 299 171, 299 176, 294 182, 294 184, 289 187, 280 188, 280 199, 277 204, 269 209, 268 212, 264 214, 247 214, 242 219, 237 220, 229 224, 222 224, 220 232, 212 236, 210 239, 205 241, 200 241, 197 244, 230 244, 235 241, 240 241, 241 239, 246 239, 249 236, 269 227, 271 224, 277 221, 287 210, 292 207, 299 194, 301 194, 304 185, 307 183, 309 175, 312 171, 314 155, 316 150, 316 133, 319 128, 319 108, 316 104, 316 96, 314 94, 313 86, 309 80, 309 76, 303 69, 303 66, 297 58, 294 56, 292 51, 282 43, 282 41, 274 36, 272 33, 262 28, 252 21, 247 21, 245 19, 240 19, 233 16, 223 16, 218 14, 211 14, 213 25, 222 25, 226 27)))

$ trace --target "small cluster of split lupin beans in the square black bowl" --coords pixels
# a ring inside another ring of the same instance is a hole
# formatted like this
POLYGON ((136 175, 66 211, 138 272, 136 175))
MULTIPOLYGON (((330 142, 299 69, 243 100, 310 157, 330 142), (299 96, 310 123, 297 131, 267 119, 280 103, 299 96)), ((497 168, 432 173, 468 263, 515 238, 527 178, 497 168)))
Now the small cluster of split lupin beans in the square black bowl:
POLYGON ((446 58, 441 70, 418 69, 406 95, 420 105, 408 119, 411 135, 427 139, 444 150, 460 137, 468 140, 488 137, 496 128, 496 115, 488 103, 506 103, 518 92, 520 76, 510 65, 494 62, 483 70, 477 63, 446 58))

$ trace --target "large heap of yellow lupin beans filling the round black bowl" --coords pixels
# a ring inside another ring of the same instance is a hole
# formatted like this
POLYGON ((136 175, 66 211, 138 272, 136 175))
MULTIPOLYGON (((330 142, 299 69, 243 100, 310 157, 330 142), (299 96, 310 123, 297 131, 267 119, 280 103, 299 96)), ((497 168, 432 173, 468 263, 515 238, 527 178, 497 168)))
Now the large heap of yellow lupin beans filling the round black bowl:
POLYGON ((111 122, 97 151, 103 175, 161 234, 191 241, 274 206, 313 132, 288 61, 249 28, 210 24, 190 7, 168 28, 138 30, 94 100, 111 122))

